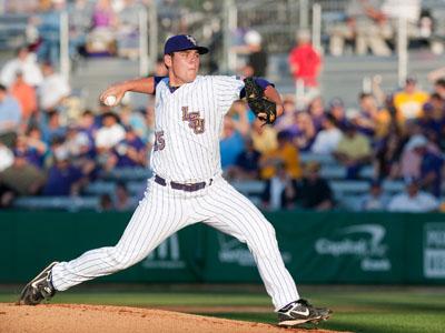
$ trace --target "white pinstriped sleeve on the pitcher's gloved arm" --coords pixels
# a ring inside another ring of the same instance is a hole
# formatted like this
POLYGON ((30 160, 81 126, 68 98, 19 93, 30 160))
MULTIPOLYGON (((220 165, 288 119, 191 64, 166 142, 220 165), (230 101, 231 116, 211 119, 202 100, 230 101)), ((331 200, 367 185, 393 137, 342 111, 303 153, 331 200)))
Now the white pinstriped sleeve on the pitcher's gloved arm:
POLYGON ((239 77, 215 75, 212 84, 219 113, 227 113, 231 103, 239 100, 239 93, 244 88, 244 81, 239 77))

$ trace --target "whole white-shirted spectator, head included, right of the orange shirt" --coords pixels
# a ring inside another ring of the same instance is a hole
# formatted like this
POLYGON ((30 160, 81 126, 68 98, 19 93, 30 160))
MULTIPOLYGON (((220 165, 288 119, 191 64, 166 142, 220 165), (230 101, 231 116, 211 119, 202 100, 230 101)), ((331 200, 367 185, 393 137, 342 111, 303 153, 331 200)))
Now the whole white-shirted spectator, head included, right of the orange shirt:
POLYGON ((49 112, 58 110, 63 100, 71 93, 68 81, 55 71, 50 62, 42 64, 43 81, 39 88, 40 108, 49 112))

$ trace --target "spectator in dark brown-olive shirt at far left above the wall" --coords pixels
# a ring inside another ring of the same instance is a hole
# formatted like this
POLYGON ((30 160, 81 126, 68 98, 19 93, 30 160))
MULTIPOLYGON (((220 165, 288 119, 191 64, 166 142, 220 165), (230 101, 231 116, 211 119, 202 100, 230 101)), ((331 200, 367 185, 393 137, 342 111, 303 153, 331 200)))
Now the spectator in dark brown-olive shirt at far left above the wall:
POLYGON ((14 150, 13 164, 0 173, 0 184, 14 195, 34 195, 44 181, 44 172, 29 163, 26 154, 18 150, 14 150))

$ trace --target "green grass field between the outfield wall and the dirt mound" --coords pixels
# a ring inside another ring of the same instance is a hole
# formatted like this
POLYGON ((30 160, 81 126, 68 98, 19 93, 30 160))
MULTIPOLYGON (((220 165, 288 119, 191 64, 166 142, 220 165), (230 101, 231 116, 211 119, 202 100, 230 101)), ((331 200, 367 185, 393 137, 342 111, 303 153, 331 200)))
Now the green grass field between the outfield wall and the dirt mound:
MULTIPOLYGON (((334 310, 334 316, 319 325, 320 329, 349 332, 445 332, 444 289, 376 289, 376 287, 303 287, 301 292, 316 305, 334 310)), ((0 302, 13 302, 17 294, 3 290, 0 302)), ((78 290, 59 293, 53 303, 90 303, 132 306, 204 306, 199 314, 219 317, 275 323, 273 312, 239 312, 237 306, 264 306, 271 309, 264 293, 246 292, 154 292, 131 290, 110 292, 105 290, 78 290), (212 306, 233 306, 214 313, 212 306)))

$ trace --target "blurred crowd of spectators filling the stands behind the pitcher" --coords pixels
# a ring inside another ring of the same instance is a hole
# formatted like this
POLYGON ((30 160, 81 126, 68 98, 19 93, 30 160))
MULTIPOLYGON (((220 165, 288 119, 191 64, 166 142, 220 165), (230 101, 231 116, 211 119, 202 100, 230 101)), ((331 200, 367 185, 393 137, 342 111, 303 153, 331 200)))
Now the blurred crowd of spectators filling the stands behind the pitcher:
MULTIPOLYGON (((40 29, 37 44, 20 48, 0 69, 2 208, 13 205, 14 199, 23 195, 82 195, 88 184, 107 173, 149 168, 155 139, 154 100, 144 110, 130 104, 83 110, 69 82, 55 70, 52 61, 58 59, 51 54, 58 52, 52 52, 50 41, 44 40, 51 37, 43 29, 46 14, 60 10, 58 6, 66 2, 39 2, 48 8, 39 19, 31 20, 40 29)), ((85 3, 90 2, 70 4, 80 10, 85 3)), ((120 13, 135 3, 129 1, 120 13)), ((115 22, 105 18, 110 13, 110 1, 97 1, 89 10, 88 16, 79 11, 79 19, 97 22, 97 36, 106 40, 102 26, 115 22)), ((76 10, 70 13, 75 16, 76 10)), ((79 27, 83 23, 79 21, 79 27)), ((91 34, 72 39, 79 42, 76 48, 91 48, 91 34)), ((320 172, 323 165, 300 160, 301 154, 330 155, 343 165, 346 180, 363 179, 362 171, 373 168, 363 210, 438 210, 445 150, 445 78, 436 78, 429 91, 421 90, 414 77, 392 93, 376 85, 373 93, 358 94, 358 109, 349 109, 340 98, 325 101, 319 94, 317 75, 323 59, 310 46, 307 32, 298 33, 297 40, 289 54, 289 73, 309 88, 307 100, 301 103, 294 95, 284 95, 284 114, 266 127, 244 101, 235 102, 221 131, 225 176, 234 182, 264 181, 264 209, 334 209, 338 202, 329 180, 320 172), (387 198, 382 182, 388 179, 405 180, 406 192, 387 198)), ((261 37, 249 31, 246 46, 234 49, 247 54, 239 72, 263 74, 267 53, 261 37)), ((165 68, 158 65, 156 74, 165 75, 165 68)), ((100 198, 98 209, 131 209, 137 199, 125 183, 119 183, 115 194, 100 198)))

